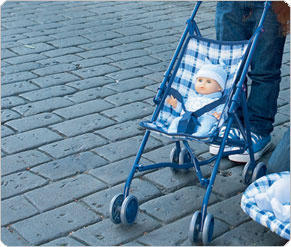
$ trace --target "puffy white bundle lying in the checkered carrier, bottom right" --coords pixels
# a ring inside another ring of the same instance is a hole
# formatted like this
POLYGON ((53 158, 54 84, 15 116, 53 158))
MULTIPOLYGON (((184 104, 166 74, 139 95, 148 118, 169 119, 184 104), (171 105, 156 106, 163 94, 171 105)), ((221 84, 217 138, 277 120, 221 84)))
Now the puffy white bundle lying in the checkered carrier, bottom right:
POLYGON ((290 222, 290 177, 278 179, 270 188, 255 196, 258 208, 271 211, 282 222, 290 222))

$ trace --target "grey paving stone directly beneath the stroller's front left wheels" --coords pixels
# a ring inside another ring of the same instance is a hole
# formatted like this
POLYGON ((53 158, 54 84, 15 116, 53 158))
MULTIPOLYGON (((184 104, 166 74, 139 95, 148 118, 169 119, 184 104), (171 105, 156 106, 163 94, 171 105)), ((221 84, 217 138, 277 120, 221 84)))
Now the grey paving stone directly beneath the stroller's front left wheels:
POLYGON ((156 220, 140 213, 131 226, 115 225, 108 219, 73 232, 72 236, 91 246, 123 245, 159 225, 156 220))

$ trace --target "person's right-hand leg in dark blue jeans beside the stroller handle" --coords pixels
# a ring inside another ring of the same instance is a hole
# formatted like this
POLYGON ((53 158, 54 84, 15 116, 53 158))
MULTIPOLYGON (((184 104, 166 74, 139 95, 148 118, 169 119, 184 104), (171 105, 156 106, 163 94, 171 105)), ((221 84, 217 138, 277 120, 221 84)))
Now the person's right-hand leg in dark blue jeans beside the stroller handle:
MULTIPOLYGON (((252 9, 249 26, 254 25, 255 29, 262 15, 263 6, 260 2, 249 2, 249 7, 252 9)), ((273 131, 284 43, 285 37, 281 33, 280 24, 270 8, 251 63, 249 77, 252 86, 247 103, 251 130, 263 137, 273 131)))

